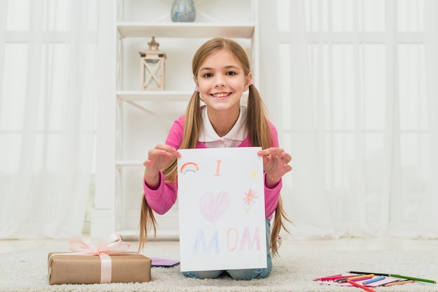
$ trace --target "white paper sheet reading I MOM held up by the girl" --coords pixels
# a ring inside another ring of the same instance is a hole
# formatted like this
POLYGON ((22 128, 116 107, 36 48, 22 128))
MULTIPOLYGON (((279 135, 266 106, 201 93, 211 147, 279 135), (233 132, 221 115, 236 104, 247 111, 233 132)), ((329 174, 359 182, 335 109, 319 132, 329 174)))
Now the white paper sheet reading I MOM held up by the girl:
POLYGON ((266 268, 260 149, 178 150, 181 271, 266 268))

